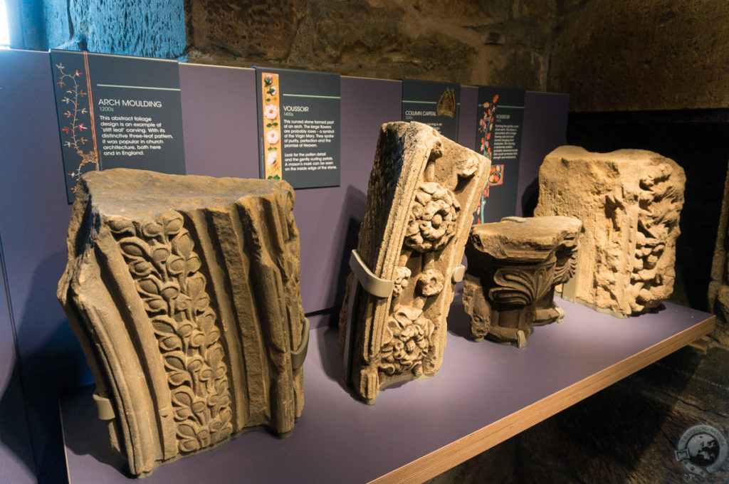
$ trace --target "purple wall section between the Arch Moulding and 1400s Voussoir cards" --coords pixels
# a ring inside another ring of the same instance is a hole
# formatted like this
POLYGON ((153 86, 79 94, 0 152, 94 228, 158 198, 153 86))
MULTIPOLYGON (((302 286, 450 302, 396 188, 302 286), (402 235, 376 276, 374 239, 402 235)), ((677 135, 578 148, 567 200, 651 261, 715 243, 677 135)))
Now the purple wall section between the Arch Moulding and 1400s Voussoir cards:
POLYGON ((258 178, 255 71, 179 69, 187 174, 258 178))

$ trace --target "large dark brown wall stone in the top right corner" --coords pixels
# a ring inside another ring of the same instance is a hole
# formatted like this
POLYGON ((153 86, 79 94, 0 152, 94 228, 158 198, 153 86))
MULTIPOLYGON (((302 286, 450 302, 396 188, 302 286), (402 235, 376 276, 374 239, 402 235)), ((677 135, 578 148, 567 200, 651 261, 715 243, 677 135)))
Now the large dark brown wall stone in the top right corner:
POLYGON ((729 106, 729 2, 590 0, 561 17, 547 90, 573 111, 729 106))

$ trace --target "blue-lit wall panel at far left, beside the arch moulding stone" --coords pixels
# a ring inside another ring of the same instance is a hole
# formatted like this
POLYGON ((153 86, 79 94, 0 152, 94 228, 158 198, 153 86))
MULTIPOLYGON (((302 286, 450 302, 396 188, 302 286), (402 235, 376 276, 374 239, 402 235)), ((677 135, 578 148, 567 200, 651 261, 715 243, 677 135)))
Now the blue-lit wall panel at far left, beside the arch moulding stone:
POLYGON ((0 235, 17 348, 26 386, 55 385, 84 372, 85 359, 55 297, 71 206, 49 55, 0 51, 0 72, 0 235))

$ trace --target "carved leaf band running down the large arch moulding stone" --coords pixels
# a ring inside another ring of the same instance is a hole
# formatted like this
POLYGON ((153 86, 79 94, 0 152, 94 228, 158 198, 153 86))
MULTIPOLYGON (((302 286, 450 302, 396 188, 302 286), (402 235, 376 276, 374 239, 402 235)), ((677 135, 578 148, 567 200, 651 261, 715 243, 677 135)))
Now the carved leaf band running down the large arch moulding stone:
POLYGON ((182 215, 109 222, 164 360, 178 448, 193 452, 233 432, 225 356, 200 257, 182 215))

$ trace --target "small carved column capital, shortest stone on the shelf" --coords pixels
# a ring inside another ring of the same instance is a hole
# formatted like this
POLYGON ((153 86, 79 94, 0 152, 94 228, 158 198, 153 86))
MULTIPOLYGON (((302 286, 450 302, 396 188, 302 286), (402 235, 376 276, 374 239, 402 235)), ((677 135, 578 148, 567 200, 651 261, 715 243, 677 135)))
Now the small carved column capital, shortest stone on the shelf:
POLYGON ((472 337, 521 348, 532 326, 561 321, 554 287, 574 274, 581 228, 580 220, 566 216, 474 225, 463 293, 472 337))

